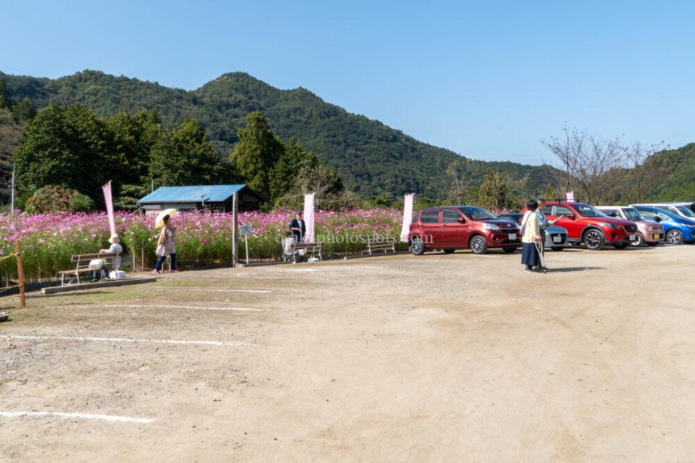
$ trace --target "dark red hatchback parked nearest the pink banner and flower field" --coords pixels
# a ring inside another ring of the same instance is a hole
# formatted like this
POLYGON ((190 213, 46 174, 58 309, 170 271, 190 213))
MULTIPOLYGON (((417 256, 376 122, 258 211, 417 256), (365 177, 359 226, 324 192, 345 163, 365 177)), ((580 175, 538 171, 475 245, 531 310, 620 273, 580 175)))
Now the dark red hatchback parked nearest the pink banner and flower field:
POLYGON ((519 229, 512 220, 502 220, 482 208, 470 205, 430 208, 416 212, 410 226, 410 251, 422 255, 427 249, 471 248, 482 254, 488 248, 513 253, 521 244, 519 229))

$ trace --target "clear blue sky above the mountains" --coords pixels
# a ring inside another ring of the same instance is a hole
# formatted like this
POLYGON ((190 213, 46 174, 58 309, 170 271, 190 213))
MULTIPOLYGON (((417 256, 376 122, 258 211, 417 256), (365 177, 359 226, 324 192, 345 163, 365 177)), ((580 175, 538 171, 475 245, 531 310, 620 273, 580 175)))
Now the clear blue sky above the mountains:
POLYGON ((3 0, 0 70, 305 87, 471 158, 540 164, 564 126, 695 141, 695 2, 3 0))

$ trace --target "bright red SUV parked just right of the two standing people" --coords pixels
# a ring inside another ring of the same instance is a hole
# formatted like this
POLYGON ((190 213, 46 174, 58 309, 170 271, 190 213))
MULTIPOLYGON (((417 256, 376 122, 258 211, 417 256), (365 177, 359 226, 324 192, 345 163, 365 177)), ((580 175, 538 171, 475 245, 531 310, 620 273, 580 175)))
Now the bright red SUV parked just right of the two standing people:
MULTIPOLYGON (((526 208, 521 212, 525 212, 526 208)), ((543 214, 548 220, 562 216, 557 225, 567 229, 569 242, 582 244, 591 251, 608 244, 625 249, 639 240, 637 224, 631 220, 608 217, 593 205, 584 203, 546 203, 543 214)))

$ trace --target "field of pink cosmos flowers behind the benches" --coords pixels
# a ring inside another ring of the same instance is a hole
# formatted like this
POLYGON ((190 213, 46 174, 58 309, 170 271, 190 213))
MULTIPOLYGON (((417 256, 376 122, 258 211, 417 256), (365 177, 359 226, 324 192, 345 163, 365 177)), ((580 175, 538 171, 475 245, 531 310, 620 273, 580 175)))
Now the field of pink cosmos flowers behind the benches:
MULTIPOLYGON (((279 240, 288 229, 291 210, 240 212, 239 225, 251 224, 249 237, 252 261, 279 260, 279 240)), ((316 238, 322 240, 323 255, 350 255, 365 249, 365 240, 373 236, 400 235, 402 211, 369 209, 316 212, 316 238)), ((117 212, 117 233, 124 255, 134 255, 138 268, 142 255, 145 267, 152 267, 156 256, 157 230, 154 216, 117 212)), ((231 214, 182 212, 172 218, 177 229, 177 258, 185 269, 231 262, 231 214)), ((52 212, 47 214, 0 214, 0 258, 14 253, 15 239, 22 242, 22 262, 28 282, 56 278, 60 270, 70 269, 70 257, 108 248, 106 213, 52 212)), ((245 257, 244 240, 239 240, 240 258, 245 257)), ((402 244, 397 246, 404 246, 402 244)), ((0 261, 0 279, 11 284, 17 276, 15 259, 0 261)))

